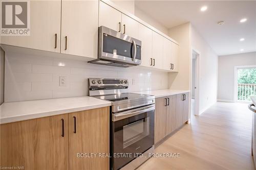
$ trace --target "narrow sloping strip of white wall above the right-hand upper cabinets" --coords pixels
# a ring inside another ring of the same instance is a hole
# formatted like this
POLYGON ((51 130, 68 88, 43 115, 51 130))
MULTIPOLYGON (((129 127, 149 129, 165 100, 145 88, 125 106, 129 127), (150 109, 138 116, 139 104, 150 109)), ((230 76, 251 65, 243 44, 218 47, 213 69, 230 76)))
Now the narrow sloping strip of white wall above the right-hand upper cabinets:
POLYGON ((135 7, 135 16, 142 19, 143 21, 147 22, 149 25, 155 27, 162 33, 168 35, 168 29, 164 26, 162 26, 158 21, 152 19, 147 14, 145 14, 143 11, 141 11, 139 8, 135 7))

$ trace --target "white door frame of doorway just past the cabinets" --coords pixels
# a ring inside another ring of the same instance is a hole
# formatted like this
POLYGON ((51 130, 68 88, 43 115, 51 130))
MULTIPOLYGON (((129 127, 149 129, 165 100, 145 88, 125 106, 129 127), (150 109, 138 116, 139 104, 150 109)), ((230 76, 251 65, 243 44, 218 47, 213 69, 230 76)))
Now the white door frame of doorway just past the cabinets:
MULTIPOLYGON (((197 54, 197 58, 196 58, 196 76, 195 76, 195 86, 197 87, 195 90, 195 106, 194 106, 194 115, 200 115, 200 111, 199 111, 199 91, 200 91, 200 56, 201 53, 196 50, 196 48, 191 47, 191 60, 190 60, 190 91, 192 91, 192 63, 193 63, 193 53, 197 54)), ((190 101, 192 99, 192 95, 190 94, 190 101)), ((191 108, 191 102, 190 102, 190 108, 191 108)))

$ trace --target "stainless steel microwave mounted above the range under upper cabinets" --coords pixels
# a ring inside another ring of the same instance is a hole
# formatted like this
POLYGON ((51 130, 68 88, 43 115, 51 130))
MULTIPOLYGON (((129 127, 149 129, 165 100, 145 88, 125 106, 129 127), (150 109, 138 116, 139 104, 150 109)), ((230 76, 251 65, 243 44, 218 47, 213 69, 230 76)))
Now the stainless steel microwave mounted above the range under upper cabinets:
POLYGON ((141 41, 101 26, 98 31, 98 59, 89 62, 119 67, 140 65, 141 41))

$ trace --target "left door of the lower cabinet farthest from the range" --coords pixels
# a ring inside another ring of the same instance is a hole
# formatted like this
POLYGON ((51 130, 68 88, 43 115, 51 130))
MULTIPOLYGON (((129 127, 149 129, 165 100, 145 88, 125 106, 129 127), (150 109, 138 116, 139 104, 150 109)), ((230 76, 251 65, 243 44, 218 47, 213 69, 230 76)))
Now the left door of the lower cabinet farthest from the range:
POLYGON ((183 104, 183 95, 177 94, 176 100, 176 129, 179 128, 183 122, 183 111, 184 111, 184 104, 183 104))

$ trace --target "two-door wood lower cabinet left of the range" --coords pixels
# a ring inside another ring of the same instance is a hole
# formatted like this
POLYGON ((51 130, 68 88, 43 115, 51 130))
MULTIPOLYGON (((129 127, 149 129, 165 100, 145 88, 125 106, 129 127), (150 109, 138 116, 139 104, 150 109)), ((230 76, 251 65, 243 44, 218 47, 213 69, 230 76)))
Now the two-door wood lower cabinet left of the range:
POLYGON ((109 169, 108 157, 77 157, 77 153, 109 153, 109 119, 109 107, 103 107, 0 125, 0 166, 109 169))

